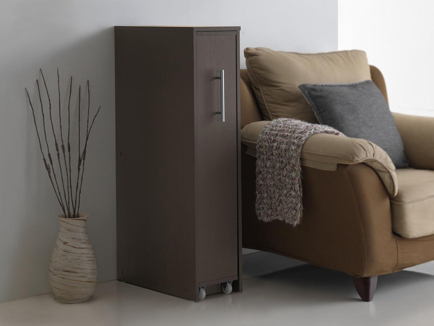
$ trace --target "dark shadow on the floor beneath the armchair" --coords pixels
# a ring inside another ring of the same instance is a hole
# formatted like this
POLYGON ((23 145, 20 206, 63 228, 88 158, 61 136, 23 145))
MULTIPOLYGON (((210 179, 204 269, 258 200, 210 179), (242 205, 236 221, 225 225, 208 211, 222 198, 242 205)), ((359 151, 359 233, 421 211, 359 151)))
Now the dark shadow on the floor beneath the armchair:
MULTIPOLYGON (((245 288, 250 286, 276 286, 282 292, 296 292, 296 301, 307 300, 359 300, 351 276, 272 253, 258 252, 243 256, 245 288), (260 280, 260 282, 259 282, 260 280), (250 284, 253 283, 253 284, 250 284)), ((401 292, 424 283, 434 284, 434 276, 412 271, 401 271, 378 277, 375 295, 401 292)), ((288 296, 292 301, 294 296, 288 296)))

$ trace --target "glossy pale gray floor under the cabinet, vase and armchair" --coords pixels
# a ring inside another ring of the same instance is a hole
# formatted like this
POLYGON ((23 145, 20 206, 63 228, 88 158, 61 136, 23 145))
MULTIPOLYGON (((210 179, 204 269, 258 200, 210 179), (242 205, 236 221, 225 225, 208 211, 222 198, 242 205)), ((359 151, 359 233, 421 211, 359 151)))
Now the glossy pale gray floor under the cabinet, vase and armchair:
MULTIPOLYGON (((0 303, 1 326, 432 325, 434 276, 401 271, 378 278, 371 303, 351 277, 269 253, 244 256, 244 292, 194 303, 130 284, 99 283, 87 303, 51 294, 0 303)), ((432 270, 431 265, 418 270, 432 270)))

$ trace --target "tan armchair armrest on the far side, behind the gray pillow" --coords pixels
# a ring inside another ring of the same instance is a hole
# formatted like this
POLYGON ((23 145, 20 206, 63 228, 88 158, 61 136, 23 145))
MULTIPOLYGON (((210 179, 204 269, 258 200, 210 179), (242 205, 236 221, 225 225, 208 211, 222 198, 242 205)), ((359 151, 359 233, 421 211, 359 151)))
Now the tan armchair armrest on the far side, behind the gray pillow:
POLYGON ((434 117, 401 113, 393 116, 410 166, 434 170, 434 117))

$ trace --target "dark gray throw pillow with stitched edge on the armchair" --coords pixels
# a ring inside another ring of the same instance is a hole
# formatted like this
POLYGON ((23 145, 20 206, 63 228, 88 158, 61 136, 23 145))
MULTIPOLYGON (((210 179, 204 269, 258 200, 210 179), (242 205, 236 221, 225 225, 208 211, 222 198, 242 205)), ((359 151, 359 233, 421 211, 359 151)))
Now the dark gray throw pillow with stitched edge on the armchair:
POLYGON ((319 123, 380 146, 397 168, 408 167, 404 144, 381 91, 372 80, 352 84, 302 84, 299 89, 319 123))

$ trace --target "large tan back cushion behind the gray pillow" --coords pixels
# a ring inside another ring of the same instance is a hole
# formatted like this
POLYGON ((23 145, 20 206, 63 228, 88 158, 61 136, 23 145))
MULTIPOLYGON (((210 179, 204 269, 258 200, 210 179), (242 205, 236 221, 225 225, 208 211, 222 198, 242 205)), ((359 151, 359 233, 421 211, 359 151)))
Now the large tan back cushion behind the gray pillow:
POLYGON ((300 84, 343 84, 371 79, 366 53, 361 50, 311 54, 247 47, 244 56, 264 120, 285 117, 317 123, 298 88, 300 84))

